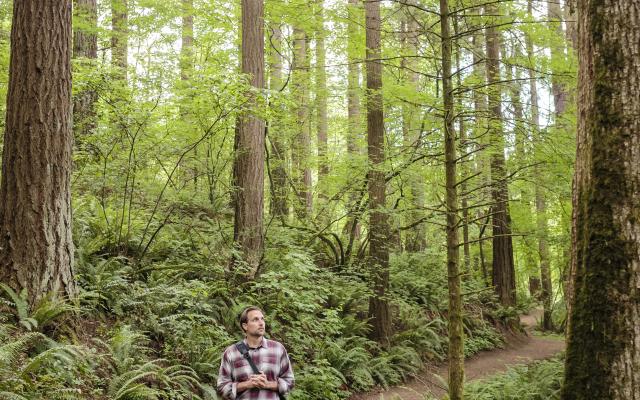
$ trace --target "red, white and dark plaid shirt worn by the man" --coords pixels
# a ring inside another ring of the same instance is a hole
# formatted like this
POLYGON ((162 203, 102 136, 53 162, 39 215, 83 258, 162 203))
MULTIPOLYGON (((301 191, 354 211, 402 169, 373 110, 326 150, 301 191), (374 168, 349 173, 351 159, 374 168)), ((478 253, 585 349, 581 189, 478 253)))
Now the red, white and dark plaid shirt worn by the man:
MULTIPOLYGON (((247 344, 246 339, 244 343, 247 344)), ((278 393, 286 394, 293 388, 293 369, 287 350, 275 340, 262 338, 259 347, 249 348, 249 355, 258 370, 264 372, 269 381, 278 381, 278 392, 253 388, 238 393, 238 382, 244 382, 253 375, 249 362, 238 351, 235 344, 227 347, 222 354, 218 373, 218 393, 228 400, 279 400, 278 393)))

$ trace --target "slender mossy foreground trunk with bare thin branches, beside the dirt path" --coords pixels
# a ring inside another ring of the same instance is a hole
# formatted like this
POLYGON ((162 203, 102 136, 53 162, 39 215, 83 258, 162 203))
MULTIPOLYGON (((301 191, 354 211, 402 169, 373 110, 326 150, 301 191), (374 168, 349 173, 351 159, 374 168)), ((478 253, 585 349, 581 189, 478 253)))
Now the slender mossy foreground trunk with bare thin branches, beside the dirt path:
POLYGON ((460 251, 458 246, 458 194, 456 191, 456 132, 453 128, 453 84, 451 79, 451 33, 448 0, 440 0, 442 38, 442 94, 444 98, 444 140, 447 205, 447 275, 449 286, 449 399, 462 400, 464 387, 464 341, 460 294, 460 251))

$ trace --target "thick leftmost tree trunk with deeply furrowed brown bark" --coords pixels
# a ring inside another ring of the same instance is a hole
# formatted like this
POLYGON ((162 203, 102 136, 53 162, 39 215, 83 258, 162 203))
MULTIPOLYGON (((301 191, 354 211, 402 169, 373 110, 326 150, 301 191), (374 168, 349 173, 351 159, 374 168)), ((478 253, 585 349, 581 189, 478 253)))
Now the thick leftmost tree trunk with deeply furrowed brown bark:
POLYGON ((13 3, 0 183, 0 281, 75 294, 71 240, 71 0, 13 3), (55 49, 55 51, 52 51, 55 49))

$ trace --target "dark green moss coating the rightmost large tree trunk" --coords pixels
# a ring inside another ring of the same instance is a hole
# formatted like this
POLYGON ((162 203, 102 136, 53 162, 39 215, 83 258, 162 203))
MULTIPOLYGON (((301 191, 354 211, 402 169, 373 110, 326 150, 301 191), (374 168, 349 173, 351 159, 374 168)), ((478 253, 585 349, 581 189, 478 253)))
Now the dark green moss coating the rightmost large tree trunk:
POLYGON ((620 42, 602 1, 592 1, 590 40, 594 52, 593 104, 585 126, 593 145, 591 181, 580 194, 578 271, 567 349, 563 399, 610 399, 613 363, 631 343, 625 308, 631 295, 629 267, 635 245, 624 239, 616 212, 631 201, 623 165, 625 115, 618 95, 625 65, 620 42))

